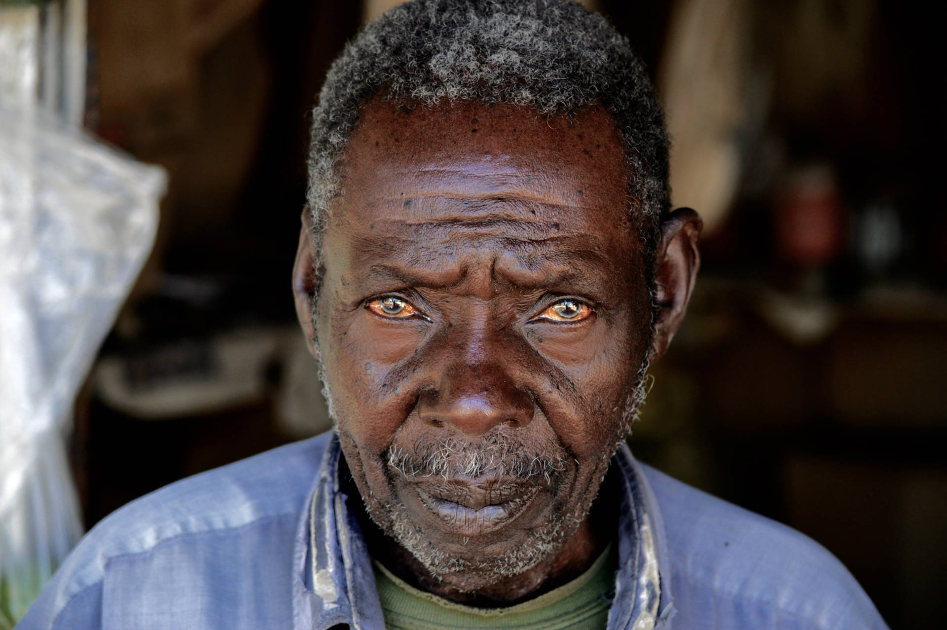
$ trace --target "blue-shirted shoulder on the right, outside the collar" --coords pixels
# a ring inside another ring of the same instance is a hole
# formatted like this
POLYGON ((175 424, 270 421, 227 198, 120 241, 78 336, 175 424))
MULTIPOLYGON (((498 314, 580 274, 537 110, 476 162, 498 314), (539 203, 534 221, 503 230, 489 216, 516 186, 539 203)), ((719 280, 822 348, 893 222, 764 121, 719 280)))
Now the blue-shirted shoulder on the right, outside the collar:
POLYGON ((712 610, 730 627, 886 627, 849 570, 808 536, 641 469, 664 520, 678 618, 712 610))

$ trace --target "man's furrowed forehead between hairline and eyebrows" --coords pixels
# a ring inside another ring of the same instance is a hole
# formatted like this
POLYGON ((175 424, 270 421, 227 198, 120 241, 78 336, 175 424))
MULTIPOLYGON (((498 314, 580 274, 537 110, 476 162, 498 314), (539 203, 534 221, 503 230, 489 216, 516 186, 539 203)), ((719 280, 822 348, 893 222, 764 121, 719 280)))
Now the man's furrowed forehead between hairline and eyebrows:
POLYGON ((340 248, 430 261, 447 243, 455 253, 513 243, 538 256, 565 247, 628 260, 637 239, 625 164, 600 107, 542 117, 507 104, 375 99, 343 154, 327 263, 340 248))

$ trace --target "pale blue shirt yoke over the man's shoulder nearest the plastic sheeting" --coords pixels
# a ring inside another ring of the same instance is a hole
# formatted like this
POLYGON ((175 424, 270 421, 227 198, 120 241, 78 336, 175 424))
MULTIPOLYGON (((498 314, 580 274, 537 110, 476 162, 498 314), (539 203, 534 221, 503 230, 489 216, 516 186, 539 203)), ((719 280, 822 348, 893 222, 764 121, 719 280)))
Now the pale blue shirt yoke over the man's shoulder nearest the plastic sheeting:
POLYGON ((325 433, 182 479, 110 514, 72 550, 23 627, 52 627, 67 605, 101 589, 117 559, 277 519, 292 521, 295 530, 330 438, 325 433), (45 621, 33 624, 34 617, 45 621))

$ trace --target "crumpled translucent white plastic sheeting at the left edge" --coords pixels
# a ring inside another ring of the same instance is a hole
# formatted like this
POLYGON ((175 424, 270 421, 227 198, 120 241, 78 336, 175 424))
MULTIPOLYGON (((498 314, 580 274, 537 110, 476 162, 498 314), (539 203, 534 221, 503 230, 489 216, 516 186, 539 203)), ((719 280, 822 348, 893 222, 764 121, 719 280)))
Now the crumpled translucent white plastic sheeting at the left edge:
POLYGON ((26 611, 80 536, 63 436, 151 250, 165 189, 164 171, 35 109, 3 107, 0 628, 26 611))

